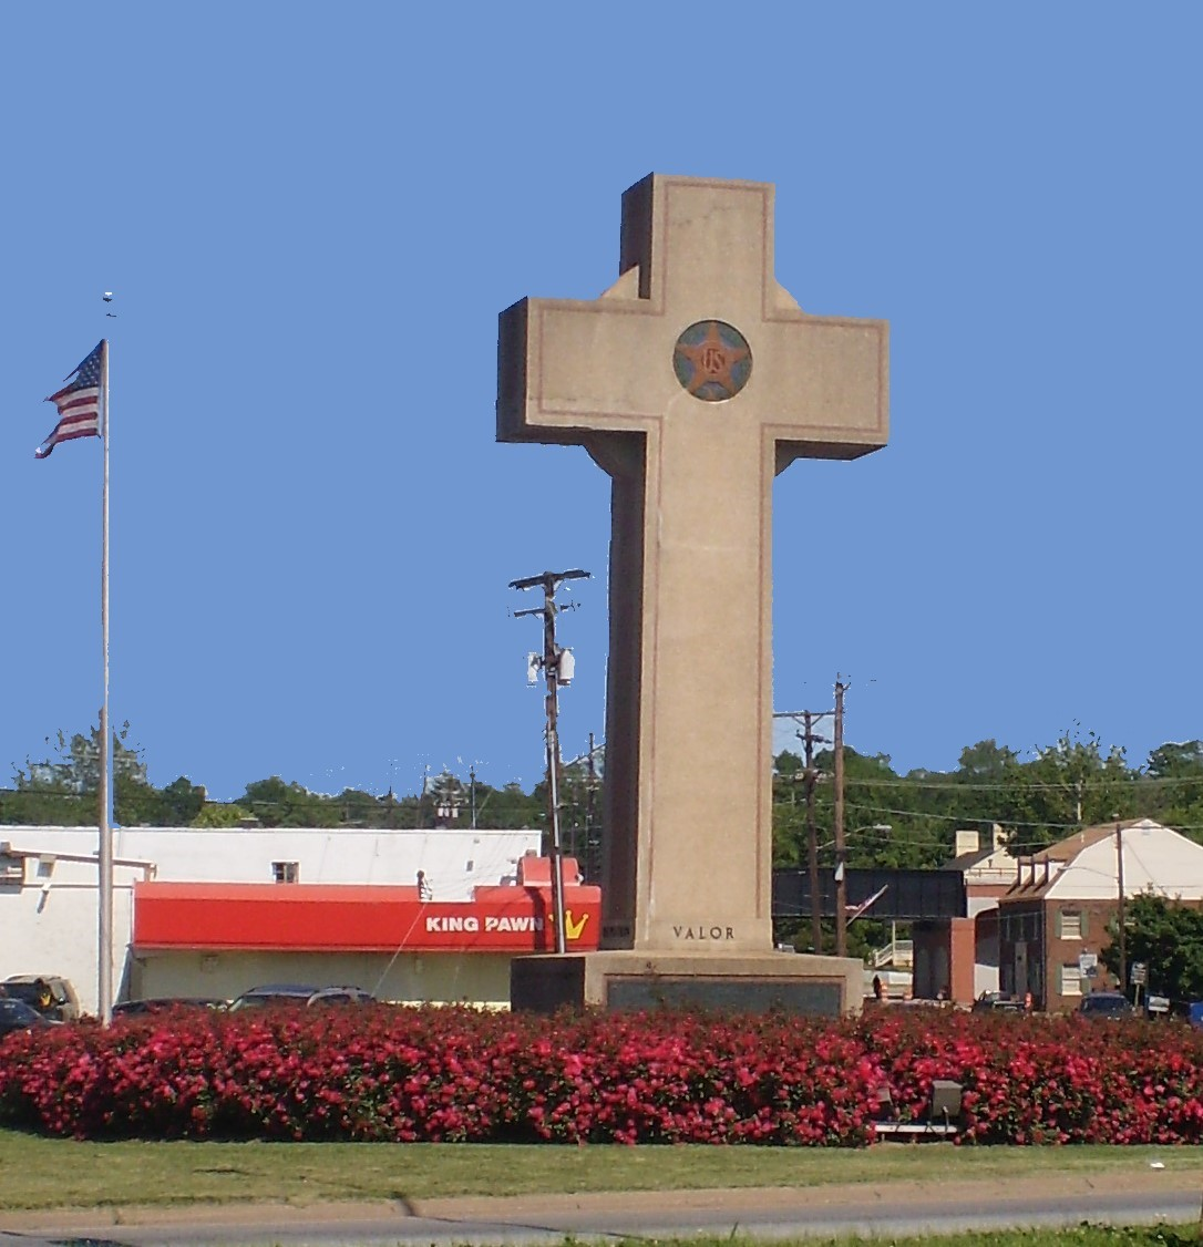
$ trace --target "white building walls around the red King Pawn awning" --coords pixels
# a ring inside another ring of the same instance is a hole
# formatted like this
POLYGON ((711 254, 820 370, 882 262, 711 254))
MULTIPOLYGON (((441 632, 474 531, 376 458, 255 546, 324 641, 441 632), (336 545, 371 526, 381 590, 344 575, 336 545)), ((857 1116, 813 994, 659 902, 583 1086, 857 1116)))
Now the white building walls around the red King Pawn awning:
MULTIPOLYGON (((188 949, 177 943, 144 950, 134 943, 135 888, 281 884, 300 900, 311 894, 311 884, 357 884, 347 894, 361 899, 362 885, 379 885, 382 903, 399 895, 398 889, 412 889, 414 902, 443 910, 443 903, 472 902, 478 888, 517 887, 519 862, 539 852, 538 831, 131 827, 115 829, 112 838, 112 981, 119 1000, 231 999, 256 983, 287 980, 356 983, 384 999, 505 1003, 513 953, 533 950, 529 944, 507 951, 462 940, 458 949, 448 944, 408 954, 398 939, 389 953, 378 943, 357 951, 347 940, 323 940, 321 930, 296 930, 288 948, 235 943, 188 949), (428 892, 419 890, 419 870, 428 892)), ((238 893, 236 887, 227 890, 238 893)), ((243 892, 262 898, 265 889, 243 892)), ((313 889, 312 895, 331 893, 313 889)), ((262 899, 257 903, 267 908, 262 899)), ((321 912, 312 905, 296 910, 306 922, 321 912)), ((96 828, 0 827, 0 979, 61 975, 75 984, 82 1009, 95 1013, 97 927, 96 828)))

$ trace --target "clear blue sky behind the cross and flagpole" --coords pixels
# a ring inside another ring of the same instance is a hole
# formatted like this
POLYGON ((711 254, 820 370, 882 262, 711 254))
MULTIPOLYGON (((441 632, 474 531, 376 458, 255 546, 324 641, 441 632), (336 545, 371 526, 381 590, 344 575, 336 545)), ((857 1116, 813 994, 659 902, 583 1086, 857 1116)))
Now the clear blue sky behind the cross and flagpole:
POLYGON ((0 783, 100 705, 151 778, 528 787, 535 605, 604 732, 609 489, 494 441, 497 314, 593 298, 645 173, 777 187, 777 279, 891 323, 890 446, 775 494, 775 700, 948 769, 1079 722, 1203 736, 1203 7, 10 5, 0 16, 0 783), (101 292, 116 292, 106 319, 101 292), (552 488, 547 483, 552 481, 552 488))

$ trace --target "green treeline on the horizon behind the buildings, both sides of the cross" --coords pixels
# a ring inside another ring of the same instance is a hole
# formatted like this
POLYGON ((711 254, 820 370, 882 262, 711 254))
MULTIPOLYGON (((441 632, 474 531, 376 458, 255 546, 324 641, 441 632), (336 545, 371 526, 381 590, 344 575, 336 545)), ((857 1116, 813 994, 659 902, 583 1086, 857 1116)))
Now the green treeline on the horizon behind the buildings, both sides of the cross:
MULTIPOLYGON (((99 736, 47 739, 51 757, 14 768, 0 789, 0 823, 49 826, 96 821, 99 736)), ((379 794, 347 788, 329 794, 272 776, 246 786, 232 802, 208 799, 181 776, 150 782, 144 751, 129 743, 129 726, 114 736, 114 819, 158 827, 434 828, 547 826, 547 788, 517 783, 494 788, 444 772, 419 793, 379 794)), ((815 761, 815 823, 820 857, 834 864, 832 756, 815 761)), ((1037 852, 1076 828, 1116 818, 1149 817, 1203 842, 1203 742, 1167 743, 1139 766, 1121 747, 1067 731, 1021 758, 995 741, 962 749, 955 771, 897 773, 887 754, 845 749, 845 837, 851 865, 936 867, 951 858, 955 832, 998 824, 1016 853, 1037 852)), ((595 864, 602 832, 602 771, 585 762, 564 768, 560 826, 569 852, 595 864)), ((805 865, 806 776, 801 757, 774 764, 775 864, 805 865)), ((983 840, 985 843, 985 840, 983 840)))

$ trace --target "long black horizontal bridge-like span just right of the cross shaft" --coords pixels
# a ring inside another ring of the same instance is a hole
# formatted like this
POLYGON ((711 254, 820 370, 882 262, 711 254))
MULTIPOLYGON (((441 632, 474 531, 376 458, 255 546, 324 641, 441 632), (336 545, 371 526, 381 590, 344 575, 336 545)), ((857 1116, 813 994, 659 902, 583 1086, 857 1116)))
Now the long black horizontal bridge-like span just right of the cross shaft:
MULTIPOLYGON (((846 874, 847 903, 862 905, 886 890, 865 910, 866 918, 965 918, 965 875, 960 870, 852 870, 846 874)), ((822 915, 835 917, 835 874, 819 872, 822 915)), ((806 870, 772 872, 772 917, 810 917, 810 875, 806 870)))

